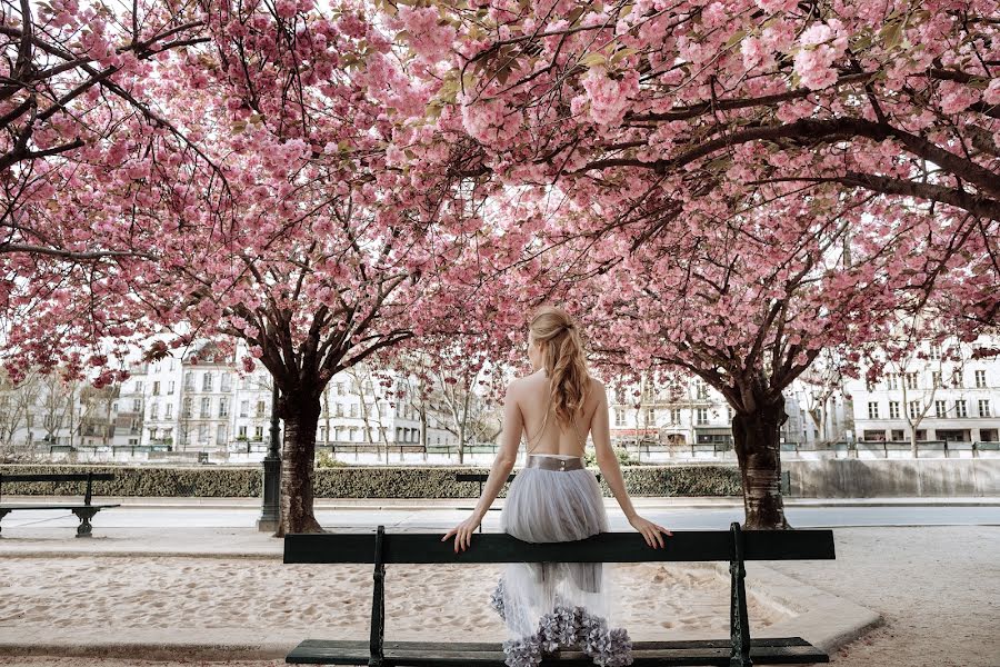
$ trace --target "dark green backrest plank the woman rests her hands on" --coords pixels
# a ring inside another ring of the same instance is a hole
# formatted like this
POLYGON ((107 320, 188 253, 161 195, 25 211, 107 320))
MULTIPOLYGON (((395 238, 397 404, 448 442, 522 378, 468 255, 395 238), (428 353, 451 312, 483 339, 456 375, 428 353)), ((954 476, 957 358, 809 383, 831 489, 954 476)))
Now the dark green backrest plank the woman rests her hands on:
MULTIPOLYGON (((471 546, 454 552, 454 538, 441 532, 383 536, 383 563, 650 563, 730 560, 728 530, 673 530, 667 547, 653 549, 634 531, 601 532, 582 540, 532 544, 506 532, 476 534, 471 546)), ((830 560, 833 531, 743 530, 744 560, 830 560)), ((374 563, 373 532, 289 534, 284 563, 374 563)))

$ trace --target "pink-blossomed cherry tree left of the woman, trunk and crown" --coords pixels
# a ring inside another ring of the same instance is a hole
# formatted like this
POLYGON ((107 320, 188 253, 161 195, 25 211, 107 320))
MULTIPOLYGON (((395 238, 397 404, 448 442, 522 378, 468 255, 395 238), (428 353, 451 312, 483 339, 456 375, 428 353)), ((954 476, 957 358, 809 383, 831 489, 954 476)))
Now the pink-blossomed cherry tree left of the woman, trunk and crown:
POLYGON ((207 41, 157 58, 136 86, 192 146, 158 141, 168 127, 136 125, 92 139, 102 159, 63 153, 56 167, 73 188, 39 206, 53 225, 83 207, 92 227, 127 235, 111 248, 129 252, 17 282, 32 316, 9 332, 6 359, 14 370, 107 367, 100 385, 122 375, 109 359, 150 334, 160 342, 149 359, 201 338, 227 354, 227 340, 243 339, 247 370, 263 365, 280 390, 278 535, 317 531, 322 390, 337 372, 451 321, 458 288, 428 286, 460 263, 466 241, 439 225, 459 200, 438 206, 433 188, 387 167, 392 125, 367 91, 391 44, 363 4, 204 1, 190 11, 207 41))

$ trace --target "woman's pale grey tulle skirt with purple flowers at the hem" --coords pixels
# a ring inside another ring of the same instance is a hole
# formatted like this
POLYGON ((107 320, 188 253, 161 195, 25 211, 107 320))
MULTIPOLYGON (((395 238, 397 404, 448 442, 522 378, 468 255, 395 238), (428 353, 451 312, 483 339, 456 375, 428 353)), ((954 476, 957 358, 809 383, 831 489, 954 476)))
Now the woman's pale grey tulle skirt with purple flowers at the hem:
MULTIPOLYGON (((568 541, 608 531, 608 514, 582 457, 529 454, 510 485, 500 524, 528 542, 568 541)), ((621 599, 612 591, 613 565, 507 564, 490 596, 508 629, 504 663, 533 667, 543 656, 570 648, 601 667, 631 665, 628 631, 613 627, 621 599)))

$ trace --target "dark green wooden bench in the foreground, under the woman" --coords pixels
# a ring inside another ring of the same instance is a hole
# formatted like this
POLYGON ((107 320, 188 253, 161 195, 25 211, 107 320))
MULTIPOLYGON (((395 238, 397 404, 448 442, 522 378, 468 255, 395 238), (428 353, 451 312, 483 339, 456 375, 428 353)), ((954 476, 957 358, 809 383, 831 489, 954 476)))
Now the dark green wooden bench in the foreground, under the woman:
MULTIPOLYGON (((642 535, 601 532, 582 540, 531 544, 503 532, 479 535, 469 549, 454 552, 441 532, 290 534, 284 563, 370 563, 374 565, 371 634, 363 639, 306 639, 284 661, 294 665, 369 667, 506 667, 500 643, 386 641, 386 565, 483 563, 648 563, 728 560, 731 575, 730 637, 683 641, 633 641, 632 667, 702 665, 802 665, 829 663, 829 656, 801 637, 751 639, 743 586, 746 560, 832 559, 832 530, 674 530, 666 549, 653 549, 642 535)), ((482 600, 487 605, 487 600, 482 600)), ((651 619, 652 620, 652 619, 651 619)), ((581 650, 559 650, 541 667, 593 667, 581 650)))

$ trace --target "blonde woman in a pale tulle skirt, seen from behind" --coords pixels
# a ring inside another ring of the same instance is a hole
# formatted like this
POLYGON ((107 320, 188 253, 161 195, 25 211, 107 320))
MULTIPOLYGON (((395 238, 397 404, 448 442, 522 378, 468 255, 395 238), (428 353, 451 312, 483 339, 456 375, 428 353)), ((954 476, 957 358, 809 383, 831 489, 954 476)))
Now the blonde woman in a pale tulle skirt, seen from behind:
MULTIPOLYGON (((451 530, 456 552, 469 548, 500 488, 513 469, 522 432, 528 439, 523 469, 510 485, 500 512, 501 529, 528 542, 578 540, 608 531, 608 515, 594 475, 583 466, 587 434, 597 462, 629 524, 653 548, 663 548, 667 528, 640 517, 624 489, 611 449, 608 395, 590 377, 578 325, 562 308, 546 306, 528 328, 534 372, 513 380, 503 401, 497 459, 472 516, 451 530)), ((632 664, 624 628, 611 627, 619 597, 610 590, 607 563, 510 563, 490 597, 504 620, 510 667, 533 667, 559 647, 579 647, 601 667, 632 664)))

